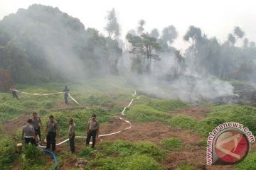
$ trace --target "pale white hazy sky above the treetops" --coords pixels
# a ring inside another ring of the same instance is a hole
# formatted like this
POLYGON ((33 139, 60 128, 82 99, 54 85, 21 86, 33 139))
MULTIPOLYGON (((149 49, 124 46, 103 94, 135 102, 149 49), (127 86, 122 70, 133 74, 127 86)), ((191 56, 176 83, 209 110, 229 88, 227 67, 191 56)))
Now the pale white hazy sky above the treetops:
POLYGON ((234 26, 240 26, 245 36, 256 42, 256 2, 253 0, 0 0, 0 20, 31 4, 58 7, 79 18, 85 28, 96 28, 101 33, 104 33, 107 11, 115 8, 122 37, 128 30, 137 28, 140 19, 146 21, 147 31, 174 25, 179 34, 177 48, 186 47, 182 37, 191 25, 201 28, 208 37, 215 35, 221 42, 234 26))

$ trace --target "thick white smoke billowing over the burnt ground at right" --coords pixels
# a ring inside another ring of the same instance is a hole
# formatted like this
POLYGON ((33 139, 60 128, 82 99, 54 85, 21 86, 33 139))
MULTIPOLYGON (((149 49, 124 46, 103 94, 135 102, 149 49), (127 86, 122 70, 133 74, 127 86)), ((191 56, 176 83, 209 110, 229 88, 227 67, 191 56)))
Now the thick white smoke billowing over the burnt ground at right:
POLYGON ((200 101, 229 103, 236 98, 233 93, 234 87, 228 81, 222 81, 210 75, 206 77, 191 74, 189 70, 180 76, 171 76, 170 73, 176 69, 174 55, 161 55, 161 61, 151 64, 153 71, 150 74, 125 72, 124 69, 130 68, 130 64, 132 64, 131 55, 126 54, 119 62, 119 69, 122 74, 129 77, 129 81, 142 94, 158 98, 181 99, 189 103, 200 101))

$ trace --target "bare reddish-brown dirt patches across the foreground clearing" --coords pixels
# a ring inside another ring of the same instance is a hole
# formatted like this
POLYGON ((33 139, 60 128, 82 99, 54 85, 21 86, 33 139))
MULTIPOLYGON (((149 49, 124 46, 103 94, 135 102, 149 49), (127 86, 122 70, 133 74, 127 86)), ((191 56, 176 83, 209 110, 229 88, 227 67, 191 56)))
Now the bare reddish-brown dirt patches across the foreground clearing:
MULTIPOLYGON (((171 114, 188 114, 194 118, 203 118, 208 112, 208 108, 195 106, 192 108, 186 108, 181 111, 171 112, 171 114)), ((119 115, 121 116, 121 115, 119 115)), ((30 118, 30 115, 22 115, 20 118, 4 124, 4 128, 10 134, 16 132, 18 128, 26 123, 26 120, 30 118), (25 123, 24 123, 25 121, 25 123)), ((97 146, 101 142, 114 142, 116 140, 128 140, 131 142, 149 141, 161 147, 161 140, 169 137, 178 137, 183 142, 183 149, 178 152, 167 152, 167 159, 164 162, 160 162, 166 169, 175 169, 181 162, 187 162, 195 165, 197 169, 233 169, 234 166, 206 166, 206 147, 198 145, 202 140, 206 140, 206 137, 202 137, 199 134, 192 133, 189 130, 181 130, 179 128, 172 128, 161 122, 154 123, 132 123, 132 128, 120 132, 117 135, 110 135, 105 137, 99 137, 97 139, 97 146)), ((108 124, 101 125, 100 135, 108 134, 111 132, 117 132, 129 127, 129 124, 120 120, 118 117, 110 120, 108 124)), ((58 138, 57 143, 65 140, 58 138)), ((76 152, 78 155, 80 150, 85 147, 85 140, 78 140, 76 142, 76 152), (80 141, 80 142, 79 142, 80 141), (82 142, 81 142, 82 141, 82 142)), ((163 148, 164 149, 164 148, 163 148)), ((63 145, 58 145, 55 154, 62 152, 70 152, 68 142, 63 145)), ((75 157, 66 157, 65 162, 59 162, 63 165, 60 169, 71 169, 75 166, 75 157)))

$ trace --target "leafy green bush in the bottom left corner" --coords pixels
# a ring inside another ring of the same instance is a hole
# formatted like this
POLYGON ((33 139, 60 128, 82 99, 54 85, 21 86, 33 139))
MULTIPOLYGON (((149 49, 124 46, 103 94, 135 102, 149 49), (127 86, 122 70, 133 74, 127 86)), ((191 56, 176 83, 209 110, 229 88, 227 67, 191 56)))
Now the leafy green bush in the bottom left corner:
POLYGON ((0 138, 0 166, 1 169, 9 170, 11 169, 11 164, 14 163, 16 159, 15 154, 15 143, 11 140, 11 137, 7 135, 1 135, 0 138))

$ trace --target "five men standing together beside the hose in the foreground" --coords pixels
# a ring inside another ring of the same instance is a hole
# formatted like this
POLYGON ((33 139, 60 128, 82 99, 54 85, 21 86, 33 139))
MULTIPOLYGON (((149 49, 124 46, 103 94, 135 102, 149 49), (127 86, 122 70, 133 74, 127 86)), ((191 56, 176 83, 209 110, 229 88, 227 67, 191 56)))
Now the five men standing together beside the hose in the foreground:
MULTIPOLYGON (((69 130, 68 139, 70 142, 70 151, 75 152, 75 123, 72 118, 68 120, 69 130)), ((41 128, 43 128, 42 120, 38 117, 37 113, 33 113, 33 117, 27 120, 27 124, 23 126, 22 130, 22 140, 26 144, 31 143, 36 145, 36 143, 41 142, 41 128)), ((92 148, 95 147, 96 137, 99 136, 99 123, 96 120, 96 115, 92 114, 92 118, 87 123, 87 138, 86 146, 89 145, 90 139, 92 137, 92 148)), ((59 135, 58 123, 54 120, 53 115, 49 116, 49 120, 46 122, 46 149, 50 149, 50 145, 53 151, 55 151, 56 146, 56 136, 59 135)))

